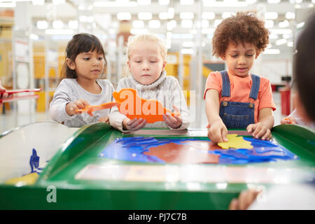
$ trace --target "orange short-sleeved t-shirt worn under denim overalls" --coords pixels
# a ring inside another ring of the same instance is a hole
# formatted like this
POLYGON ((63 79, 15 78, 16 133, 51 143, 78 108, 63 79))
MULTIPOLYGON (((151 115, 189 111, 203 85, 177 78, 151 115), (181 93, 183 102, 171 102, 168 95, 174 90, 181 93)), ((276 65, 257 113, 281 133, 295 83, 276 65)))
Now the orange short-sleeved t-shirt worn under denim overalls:
POLYGON ((214 71, 209 73, 207 78, 206 87, 204 89, 204 99, 206 98, 207 90, 214 89, 219 93, 220 104, 223 101, 244 103, 253 102, 255 104, 255 123, 258 123, 258 114, 261 109, 272 108, 273 111, 276 110, 274 100, 272 99, 272 88, 269 79, 260 77, 258 97, 255 101, 253 101, 253 99, 249 98, 252 83, 251 76, 241 78, 239 76, 232 76, 229 72, 228 76, 230 78, 230 97, 222 97, 222 76, 220 72, 214 71))

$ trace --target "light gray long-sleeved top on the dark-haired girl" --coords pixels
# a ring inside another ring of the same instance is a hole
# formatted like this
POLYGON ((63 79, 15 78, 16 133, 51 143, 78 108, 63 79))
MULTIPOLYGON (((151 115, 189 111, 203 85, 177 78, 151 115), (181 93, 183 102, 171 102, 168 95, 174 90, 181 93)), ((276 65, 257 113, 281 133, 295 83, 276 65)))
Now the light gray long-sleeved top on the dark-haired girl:
POLYGON ((68 127, 82 127, 90 123, 97 123, 99 118, 109 116, 110 109, 94 111, 91 117, 87 113, 69 116, 66 113, 66 104, 78 99, 85 99, 90 105, 99 105, 113 101, 113 85, 109 80, 99 79, 97 83, 102 88, 100 94, 87 92, 75 78, 64 78, 58 85, 49 107, 49 116, 52 120, 63 122, 68 127))

